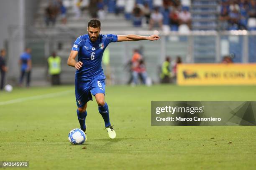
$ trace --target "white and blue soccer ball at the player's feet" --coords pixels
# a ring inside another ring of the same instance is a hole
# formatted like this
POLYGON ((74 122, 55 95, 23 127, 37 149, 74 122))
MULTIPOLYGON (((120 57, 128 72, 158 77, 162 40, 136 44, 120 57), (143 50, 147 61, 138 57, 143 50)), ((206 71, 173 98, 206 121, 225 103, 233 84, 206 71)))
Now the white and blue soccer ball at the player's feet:
POLYGON ((81 129, 73 129, 69 132, 69 142, 74 145, 81 145, 85 138, 86 136, 81 129))

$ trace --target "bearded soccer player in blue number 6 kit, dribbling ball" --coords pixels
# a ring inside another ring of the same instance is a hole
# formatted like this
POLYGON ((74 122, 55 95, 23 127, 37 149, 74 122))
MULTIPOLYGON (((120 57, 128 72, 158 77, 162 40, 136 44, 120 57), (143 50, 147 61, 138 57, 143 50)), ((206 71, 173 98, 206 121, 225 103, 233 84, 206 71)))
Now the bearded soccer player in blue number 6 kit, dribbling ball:
POLYGON ((159 40, 158 35, 113 35, 100 34, 100 20, 92 19, 88 23, 88 34, 81 35, 74 42, 67 64, 75 67, 75 93, 77 101, 77 117, 80 128, 86 133, 85 119, 87 116, 87 102, 92 95, 98 104, 98 109, 105 122, 108 136, 114 139, 115 130, 110 124, 108 104, 105 102, 105 75, 101 67, 102 55, 110 42, 159 40), (78 55, 78 62, 75 60, 78 55))

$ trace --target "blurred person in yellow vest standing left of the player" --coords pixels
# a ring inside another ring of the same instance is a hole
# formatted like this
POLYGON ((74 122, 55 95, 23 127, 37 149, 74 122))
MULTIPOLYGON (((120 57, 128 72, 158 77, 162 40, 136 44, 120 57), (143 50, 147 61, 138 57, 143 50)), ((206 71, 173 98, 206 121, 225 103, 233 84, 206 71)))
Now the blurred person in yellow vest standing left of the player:
POLYGON ((56 52, 48 58, 48 72, 51 75, 51 85, 60 85, 61 57, 56 56, 56 52))

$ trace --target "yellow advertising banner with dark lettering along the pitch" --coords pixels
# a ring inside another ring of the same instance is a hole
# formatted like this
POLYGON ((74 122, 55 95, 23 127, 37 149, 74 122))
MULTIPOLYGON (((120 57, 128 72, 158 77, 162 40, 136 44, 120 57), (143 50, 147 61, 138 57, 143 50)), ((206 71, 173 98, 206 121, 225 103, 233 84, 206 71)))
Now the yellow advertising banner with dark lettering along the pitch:
POLYGON ((178 85, 256 85, 256 64, 179 64, 178 85))

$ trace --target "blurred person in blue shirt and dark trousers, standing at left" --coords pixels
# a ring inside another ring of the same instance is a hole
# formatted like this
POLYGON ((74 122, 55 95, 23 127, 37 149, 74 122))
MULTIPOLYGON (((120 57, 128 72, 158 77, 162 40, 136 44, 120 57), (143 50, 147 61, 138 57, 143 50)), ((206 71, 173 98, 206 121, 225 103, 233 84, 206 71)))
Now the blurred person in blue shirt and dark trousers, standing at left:
POLYGON ((27 81, 26 86, 30 86, 30 75, 31 75, 31 68, 32 68, 32 62, 31 62, 31 48, 26 47, 25 52, 23 52, 20 55, 20 82, 19 85, 22 86, 23 78, 26 75, 27 81))

